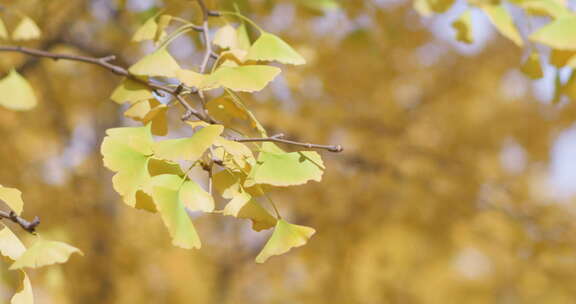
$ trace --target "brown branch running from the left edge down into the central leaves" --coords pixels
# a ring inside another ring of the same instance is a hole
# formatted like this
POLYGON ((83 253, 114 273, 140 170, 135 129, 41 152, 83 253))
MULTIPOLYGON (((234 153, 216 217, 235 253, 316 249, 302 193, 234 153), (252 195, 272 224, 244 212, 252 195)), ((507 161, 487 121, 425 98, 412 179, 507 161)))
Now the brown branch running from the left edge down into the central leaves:
POLYGON ((97 58, 97 57, 88 57, 88 56, 71 55, 71 54, 57 54, 57 53, 51 53, 51 52, 42 51, 42 50, 38 50, 38 49, 31 49, 31 48, 27 48, 27 47, 22 47, 22 46, 0 46, 0 52, 17 52, 17 53, 22 53, 22 54, 26 54, 26 55, 30 55, 30 56, 35 56, 35 57, 51 58, 54 60, 78 61, 78 62, 84 62, 84 63, 88 63, 88 64, 97 65, 97 66, 100 66, 104 69, 109 70, 110 72, 112 72, 116 75, 124 76, 124 77, 127 77, 131 80, 138 82, 138 83, 141 83, 141 84, 149 87, 152 90, 162 91, 162 92, 166 92, 166 93, 172 95, 174 98, 176 98, 178 100, 178 102, 186 110, 186 114, 184 114, 184 117, 186 119, 190 118, 193 115, 193 116, 197 117, 198 119, 206 121, 210 124, 214 123, 214 120, 210 119, 207 114, 198 113, 198 111, 194 110, 194 108, 192 108, 192 106, 190 106, 186 102, 186 100, 184 100, 184 98, 182 98, 182 96, 181 96, 182 91, 183 91, 182 86, 178 86, 177 88, 173 89, 173 88, 170 88, 167 86, 163 86, 163 85, 159 85, 159 84, 155 84, 155 83, 151 83, 151 82, 147 82, 145 80, 142 80, 139 77, 132 75, 126 68, 110 63, 110 61, 113 61, 116 59, 116 56, 114 56, 114 55, 97 58))

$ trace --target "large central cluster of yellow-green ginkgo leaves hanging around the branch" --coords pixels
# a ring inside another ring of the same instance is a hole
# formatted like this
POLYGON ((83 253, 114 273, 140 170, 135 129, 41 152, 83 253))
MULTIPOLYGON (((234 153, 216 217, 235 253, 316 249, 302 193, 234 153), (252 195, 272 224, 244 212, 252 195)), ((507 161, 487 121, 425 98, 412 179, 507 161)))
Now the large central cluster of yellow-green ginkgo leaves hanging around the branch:
MULTIPOLYGON (((211 117, 222 124, 188 122, 197 131, 186 138, 154 142, 152 135, 166 135, 166 108, 154 99, 153 92, 134 80, 125 79, 113 92, 112 100, 131 103, 125 113, 146 124, 137 128, 108 130, 102 143, 106 167, 116 172, 114 188, 129 206, 159 212, 173 239, 182 248, 199 248, 200 239, 187 214, 190 211, 219 213, 250 219, 256 231, 275 227, 274 233, 256 258, 264 262, 272 255, 301 246, 314 234, 314 229, 290 224, 277 213, 272 216, 258 201, 267 198, 264 186, 286 187, 301 185, 310 180, 320 181, 324 165, 320 155, 312 151, 285 152, 278 146, 264 142, 254 145, 254 151, 241 142, 227 139, 234 132, 234 121, 244 121, 261 137, 266 131, 246 108, 236 92, 263 90, 281 70, 263 64, 279 62, 304 64, 304 58, 281 38, 260 29, 251 20, 236 13, 260 33, 252 43, 247 26, 226 24, 213 39, 219 47, 218 59, 211 71, 180 68, 168 52, 167 46, 179 35, 193 29, 186 21, 169 15, 157 15, 147 20, 135 33, 134 41, 153 40, 158 48, 130 67, 138 77, 176 78, 201 93, 223 89, 224 94, 206 102, 211 117), (165 29, 171 20, 183 22, 171 34, 165 29), (191 180, 179 164, 200 166, 209 171, 209 190, 191 180), (212 168, 216 164, 219 169, 212 168), (213 171, 214 170, 214 171, 213 171), (217 210, 212 197, 212 185, 227 205, 217 210)), ((269 198, 267 198, 272 203, 269 198)), ((272 203, 273 205, 273 203, 272 203)))

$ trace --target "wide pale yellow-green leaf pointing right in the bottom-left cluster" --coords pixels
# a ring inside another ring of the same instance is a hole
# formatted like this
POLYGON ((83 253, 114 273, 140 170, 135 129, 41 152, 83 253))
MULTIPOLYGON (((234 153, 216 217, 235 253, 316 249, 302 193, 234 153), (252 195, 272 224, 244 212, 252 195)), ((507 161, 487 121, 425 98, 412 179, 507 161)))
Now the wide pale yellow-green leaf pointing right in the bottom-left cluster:
POLYGON ((39 268, 65 263, 73 253, 84 255, 80 249, 66 243, 39 238, 10 266, 10 269, 39 268))

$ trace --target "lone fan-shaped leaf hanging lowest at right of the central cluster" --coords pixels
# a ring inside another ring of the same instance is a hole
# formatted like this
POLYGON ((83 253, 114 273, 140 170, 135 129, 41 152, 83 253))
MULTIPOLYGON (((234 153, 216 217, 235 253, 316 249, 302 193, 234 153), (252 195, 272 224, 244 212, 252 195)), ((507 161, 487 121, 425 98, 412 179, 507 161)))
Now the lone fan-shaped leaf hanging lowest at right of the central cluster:
POLYGON ((306 244, 315 232, 316 230, 310 227, 278 220, 272 236, 256 257, 256 263, 264 263, 271 256, 284 254, 292 248, 306 244))

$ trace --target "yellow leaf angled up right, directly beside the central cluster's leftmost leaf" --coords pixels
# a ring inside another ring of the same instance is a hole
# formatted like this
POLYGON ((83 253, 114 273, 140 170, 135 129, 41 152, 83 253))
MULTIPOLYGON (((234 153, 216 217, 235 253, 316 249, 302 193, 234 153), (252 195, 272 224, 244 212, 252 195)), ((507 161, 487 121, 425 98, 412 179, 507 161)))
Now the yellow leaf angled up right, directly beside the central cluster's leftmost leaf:
POLYGON ((210 125, 191 137, 158 141, 153 146, 154 155, 171 161, 195 161, 214 143, 223 130, 224 127, 221 125, 210 125))

